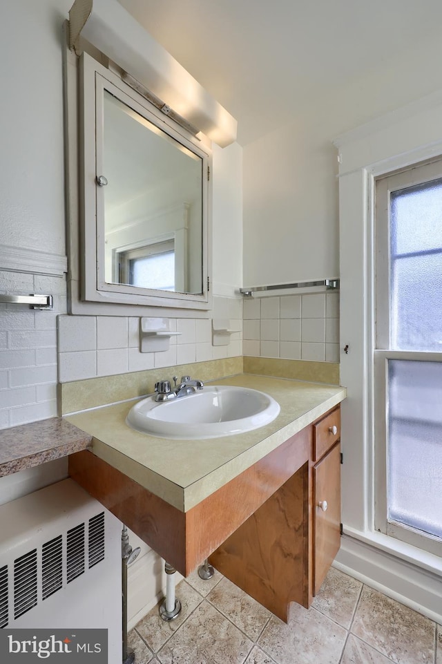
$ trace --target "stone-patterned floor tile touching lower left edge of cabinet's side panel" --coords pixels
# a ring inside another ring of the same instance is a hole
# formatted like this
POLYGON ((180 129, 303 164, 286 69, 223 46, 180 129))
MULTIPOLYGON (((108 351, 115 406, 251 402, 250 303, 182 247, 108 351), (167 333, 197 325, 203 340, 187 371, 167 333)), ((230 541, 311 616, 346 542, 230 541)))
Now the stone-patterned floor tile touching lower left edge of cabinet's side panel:
POLYGON ((260 636, 272 615, 227 578, 223 578, 213 588, 207 599, 252 641, 260 636))

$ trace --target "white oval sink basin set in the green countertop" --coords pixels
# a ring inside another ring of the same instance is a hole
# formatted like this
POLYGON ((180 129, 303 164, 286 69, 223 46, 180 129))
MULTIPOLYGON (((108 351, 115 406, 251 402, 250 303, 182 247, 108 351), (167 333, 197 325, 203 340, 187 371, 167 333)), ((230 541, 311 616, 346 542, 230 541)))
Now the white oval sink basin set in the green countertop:
POLYGON ((185 397, 155 401, 155 395, 138 401, 126 424, 162 438, 218 438, 258 429, 280 411, 264 392, 229 385, 204 386, 185 397))

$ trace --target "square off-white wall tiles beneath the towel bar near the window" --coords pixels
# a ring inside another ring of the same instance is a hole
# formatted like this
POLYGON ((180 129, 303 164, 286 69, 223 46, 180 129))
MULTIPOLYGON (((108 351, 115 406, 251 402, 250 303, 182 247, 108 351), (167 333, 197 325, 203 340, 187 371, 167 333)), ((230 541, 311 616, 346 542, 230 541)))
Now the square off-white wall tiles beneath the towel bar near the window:
POLYGON ((339 362, 339 294, 245 299, 243 353, 339 362))

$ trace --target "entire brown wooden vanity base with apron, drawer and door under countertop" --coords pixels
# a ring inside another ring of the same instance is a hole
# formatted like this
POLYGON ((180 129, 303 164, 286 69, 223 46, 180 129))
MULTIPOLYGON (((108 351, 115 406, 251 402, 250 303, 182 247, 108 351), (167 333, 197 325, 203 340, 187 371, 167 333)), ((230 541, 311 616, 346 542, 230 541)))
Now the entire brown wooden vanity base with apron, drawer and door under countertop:
POLYGON ((183 576, 209 560, 288 619, 308 608, 339 549, 339 407, 183 512, 88 450, 70 476, 183 576), (323 511, 319 502, 327 500, 323 511))

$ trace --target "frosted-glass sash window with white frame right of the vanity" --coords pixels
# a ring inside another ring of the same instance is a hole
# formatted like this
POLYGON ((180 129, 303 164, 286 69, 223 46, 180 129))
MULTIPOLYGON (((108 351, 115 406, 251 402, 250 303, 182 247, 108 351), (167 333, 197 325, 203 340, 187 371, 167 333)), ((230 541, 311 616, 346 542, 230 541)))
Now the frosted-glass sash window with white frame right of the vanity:
POLYGON ((376 183, 375 527, 442 540, 442 163, 376 183))

